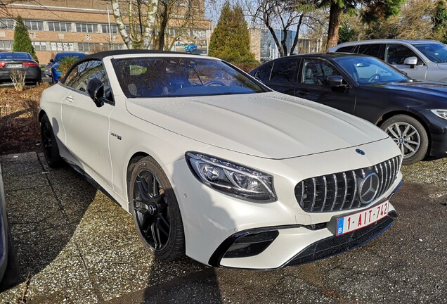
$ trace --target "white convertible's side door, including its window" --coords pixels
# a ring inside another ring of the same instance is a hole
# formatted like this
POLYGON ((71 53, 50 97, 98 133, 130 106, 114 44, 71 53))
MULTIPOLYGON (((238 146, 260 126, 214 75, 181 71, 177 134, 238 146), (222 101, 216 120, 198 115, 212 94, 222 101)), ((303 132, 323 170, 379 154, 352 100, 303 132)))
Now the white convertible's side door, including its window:
POLYGON ((85 166, 82 169, 111 185, 109 117, 115 106, 111 101, 105 101, 104 106, 99 108, 96 106, 86 92, 87 84, 93 78, 103 82, 105 96, 110 96, 110 86, 102 61, 84 61, 67 76, 64 85, 70 89, 70 93, 65 96, 62 104, 65 146, 85 166))

